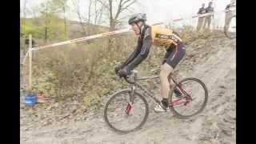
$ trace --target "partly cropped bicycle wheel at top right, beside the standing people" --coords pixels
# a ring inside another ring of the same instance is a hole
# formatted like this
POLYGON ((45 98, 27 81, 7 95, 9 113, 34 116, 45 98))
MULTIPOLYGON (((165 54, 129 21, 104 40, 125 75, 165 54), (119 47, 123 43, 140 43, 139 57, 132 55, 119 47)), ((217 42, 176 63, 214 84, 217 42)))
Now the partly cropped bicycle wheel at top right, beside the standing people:
POLYGON ((230 19, 230 26, 224 27, 224 33, 227 38, 230 38, 230 39, 236 38, 236 16, 233 16, 230 19))

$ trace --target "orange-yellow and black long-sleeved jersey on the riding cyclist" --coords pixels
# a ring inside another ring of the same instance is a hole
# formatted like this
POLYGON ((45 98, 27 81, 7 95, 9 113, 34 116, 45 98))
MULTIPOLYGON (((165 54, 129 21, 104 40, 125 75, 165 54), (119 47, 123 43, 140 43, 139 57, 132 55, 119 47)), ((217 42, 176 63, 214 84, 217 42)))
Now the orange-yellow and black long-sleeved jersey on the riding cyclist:
MULTIPOLYGON (((178 47, 182 46, 182 39, 173 30, 164 29, 158 26, 145 26, 142 35, 138 38, 137 47, 130 57, 124 62, 124 66, 130 66, 131 69, 138 66, 149 54, 151 46, 165 47, 174 50, 173 58, 178 53, 178 47)), ((169 50, 170 50, 169 49, 169 50)), ((177 57, 178 58, 178 57, 177 57)), ((170 65, 170 66, 176 66, 170 65)))

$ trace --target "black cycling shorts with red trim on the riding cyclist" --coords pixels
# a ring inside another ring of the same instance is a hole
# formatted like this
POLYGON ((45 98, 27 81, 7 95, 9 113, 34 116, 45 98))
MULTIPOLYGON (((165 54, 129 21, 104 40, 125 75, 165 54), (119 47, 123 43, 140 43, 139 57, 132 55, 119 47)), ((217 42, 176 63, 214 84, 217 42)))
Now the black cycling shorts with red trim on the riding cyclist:
POLYGON ((179 43, 178 46, 169 47, 168 49, 166 49, 166 55, 164 57, 164 60, 162 61, 162 65, 164 63, 167 63, 174 69, 178 65, 178 62, 182 60, 185 54, 186 49, 182 42, 179 43))

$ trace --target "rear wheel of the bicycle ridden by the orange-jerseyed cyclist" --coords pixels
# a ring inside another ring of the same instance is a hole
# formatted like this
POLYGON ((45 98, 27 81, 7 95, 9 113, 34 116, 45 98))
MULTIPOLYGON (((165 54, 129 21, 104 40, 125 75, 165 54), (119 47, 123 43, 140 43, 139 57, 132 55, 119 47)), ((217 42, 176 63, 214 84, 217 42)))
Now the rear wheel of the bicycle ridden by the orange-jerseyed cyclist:
POLYGON ((185 78, 178 82, 174 89, 180 91, 182 96, 170 96, 170 109, 178 118, 189 118, 206 107, 208 91, 206 85, 198 78, 185 78))

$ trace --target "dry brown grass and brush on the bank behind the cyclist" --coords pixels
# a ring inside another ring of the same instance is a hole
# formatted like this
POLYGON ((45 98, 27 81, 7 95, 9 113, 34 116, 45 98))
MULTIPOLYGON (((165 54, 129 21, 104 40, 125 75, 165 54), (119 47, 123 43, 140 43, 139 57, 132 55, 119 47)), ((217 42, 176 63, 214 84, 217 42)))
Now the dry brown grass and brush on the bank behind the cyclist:
MULTIPOLYGON (((184 26, 180 33, 188 44, 206 34, 195 33, 192 27, 184 26)), ((102 95, 109 94, 124 82, 116 80, 114 66, 123 62, 136 46, 132 34, 122 34, 108 39, 77 43, 62 48, 39 50, 33 62, 33 89, 42 91, 48 98, 65 100, 77 97, 86 106, 101 103, 102 95)), ((142 74, 157 70, 165 54, 164 49, 152 47, 145 62, 138 66, 142 74)), ((28 70, 26 70, 27 72, 28 70)), ((28 75, 28 74, 26 74, 28 75)))

